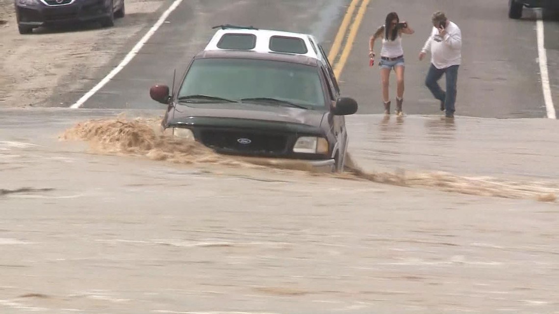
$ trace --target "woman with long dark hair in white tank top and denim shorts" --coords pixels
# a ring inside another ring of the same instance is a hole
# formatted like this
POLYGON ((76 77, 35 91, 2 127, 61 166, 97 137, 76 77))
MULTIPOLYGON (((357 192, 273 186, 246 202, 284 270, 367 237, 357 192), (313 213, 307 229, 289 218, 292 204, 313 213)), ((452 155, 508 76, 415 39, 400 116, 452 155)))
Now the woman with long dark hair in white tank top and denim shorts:
POLYGON ((385 114, 390 115, 389 82, 390 71, 394 69, 396 73, 396 114, 402 114, 402 102, 404 101, 404 49, 402 49, 402 34, 414 34, 414 30, 407 22, 400 23, 400 18, 396 12, 390 12, 386 16, 384 25, 375 31, 369 39, 369 57, 375 56, 373 50, 375 40, 382 38, 381 68, 382 98, 384 101, 385 114))

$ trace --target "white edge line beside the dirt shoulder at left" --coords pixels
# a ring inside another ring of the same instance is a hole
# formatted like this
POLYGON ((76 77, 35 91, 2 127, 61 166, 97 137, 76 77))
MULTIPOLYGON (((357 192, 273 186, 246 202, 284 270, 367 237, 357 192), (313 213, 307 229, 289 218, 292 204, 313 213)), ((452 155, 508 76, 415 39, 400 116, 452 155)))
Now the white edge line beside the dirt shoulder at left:
POLYGON ((138 51, 140 51, 141 47, 145 45, 146 41, 148 41, 150 37, 153 36, 155 31, 158 30, 158 28, 165 22, 165 19, 167 19, 170 13, 173 12, 174 9, 176 9, 179 6, 179 4, 181 4, 182 1, 183 0, 174 0, 173 4, 171 4, 170 7, 167 10, 165 10, 165 12, 163 12, 161 17, 159 17, 159 20, 155 22, 155 24, 149 29, 149 31, 144 35, 144 37, 142 37, 140 41, 138 41, 138 43, 132 48, 132 50, 130 50, 130 52, 126 54, 126 56, 124 57, 124 59, 122 59, 120 64, 117 65, 116 68, 112 69, 112 71, 109 74, 107 74, 107 76, 103 78, 101 82, 97 83, 97 85, 95 85, 90 91, 88 91, 81 98, 79 98, 77 102, 72 104, 70 108, 75 109, 81 107, 83 103, 86 102, 87 99, 89 99, 89 97, 93 96, 94 93, 99 91, 105 84, 107 84, 113 77, 115 77, 115 75, 119 73, 120 70, 122 70, 134 58, 134 56, 136 56, 136 54, 138 54, 138 51))

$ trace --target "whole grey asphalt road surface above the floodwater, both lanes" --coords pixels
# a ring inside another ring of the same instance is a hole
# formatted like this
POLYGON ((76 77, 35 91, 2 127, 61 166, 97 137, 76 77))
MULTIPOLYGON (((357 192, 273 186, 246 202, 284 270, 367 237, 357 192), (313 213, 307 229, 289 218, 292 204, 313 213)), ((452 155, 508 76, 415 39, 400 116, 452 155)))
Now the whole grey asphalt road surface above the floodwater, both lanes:
MULTIPOLYGON (((154 83, 172 82, 173 70, 180 75, 188 60, 196 54, 220 23, 238 23, 258 27, 311 32, 328 49, 337 31, 348 0, 282 1, 257 6, 258 0, 235 1, 184 0, 167 22, 141 49, 140 53, 115 78, 84 103, 84 108, 161 108, 149 97, 154 83), (258 8, 257 8, 258 7, 258 8)), ((340 77, 344 94, 356 98, 358 113, 382 113, 380 73, 369 68, 367 41, 371 32, 383 23, 386 13, 396 11, 415 29, 406 36, 406 90, 404 111, 408 115, 440 114, 438 102, 424 86, 429 60, 420 62, 418 51, 430 31, 430 14, 436 9, 447 12, 463 34, 463 65, 459 69, 456 114, 458 116, 498 118, 540 118, 546 116, 538 49, 535 13, 526 10, 522 20, 510 20, 506 3, 473 0, 405 1, 375 0, 369 3, 352 53, 340 77)), ((544 34, 549 78, 555 106, 559 104, 559 23, 544 14, 544 34)), ((377 53, 380 42, 376 44, 377 53)), ((127 51, 115 56, 114 64, 127 51)), ((110 68, 92 78, 91 87, 110 68)), ((444 78, 440 81, 444 88, 444 78)), ((66 93, 54 103, 69 106, 83 93, 66 93)), ((391 98, 395 98, 395 77, 391 77, 391 98)))

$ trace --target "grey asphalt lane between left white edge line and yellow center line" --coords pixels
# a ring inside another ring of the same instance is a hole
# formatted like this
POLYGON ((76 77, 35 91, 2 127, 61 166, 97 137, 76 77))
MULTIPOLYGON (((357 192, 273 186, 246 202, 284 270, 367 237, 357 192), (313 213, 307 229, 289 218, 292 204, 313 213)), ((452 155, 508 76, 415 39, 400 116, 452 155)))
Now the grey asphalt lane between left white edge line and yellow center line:
MULTIPOLYGON (((311 32, 319 40, 333 37, 347 0, 262 1, 184 0, 167 18, 140 53, 110 83, 89 98, 83 108, 163 108, 149 97, 155 83, 172 84, 173 70, 179 77, 188 61, 214 34, 220 24, 253 25, 288 31, 311 32)), ((127 51, 117 55, 121 60, 127 51)), ((91 87, 110 69, 103 69, 91 87)), ((70 106, 86 91, 69 93, 59 102, 70 106)))

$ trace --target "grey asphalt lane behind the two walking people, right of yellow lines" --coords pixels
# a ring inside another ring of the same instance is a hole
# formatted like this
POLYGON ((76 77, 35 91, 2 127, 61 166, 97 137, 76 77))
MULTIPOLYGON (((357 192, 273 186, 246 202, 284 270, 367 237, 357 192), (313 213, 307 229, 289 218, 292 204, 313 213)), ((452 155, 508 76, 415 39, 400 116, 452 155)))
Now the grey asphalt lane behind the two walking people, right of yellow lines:
MULTIPOLYGON (((404 35, 405 94, 404 112, 408 115, 440 114, 439 102, 424 85, 429 68, 427 55, 418 60, 419 50, 432 25, 430 16, 437 10, 447 12, 462 31, 462 65, 458 70, 456 115, 498 118, 546 117, 538 49, 535 13, 524 11, 523 20, 507 16, 506 1, 408 1, 376 0, 369 4, 359 29, 352 54, 340 77, 347 96, 356 98, 358 113, 382 113, 382 89, 378 66, 368 66, 368 38, 384 23, 387 13, 395 11, 415 34, 404 35)), ((559 105, 559 23, 544 22, 548 50, 549 77, 555 107, 559 105)), ((381 42, 375 44, 380 55, 381 42)), ((377 58, 378 59, 378 58, 377 58)), ((444 88, 444 77, 439 81, 444 88)), ((390 97, 396 98, 396 78, 391 74, 390 97)))

